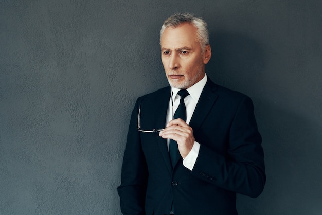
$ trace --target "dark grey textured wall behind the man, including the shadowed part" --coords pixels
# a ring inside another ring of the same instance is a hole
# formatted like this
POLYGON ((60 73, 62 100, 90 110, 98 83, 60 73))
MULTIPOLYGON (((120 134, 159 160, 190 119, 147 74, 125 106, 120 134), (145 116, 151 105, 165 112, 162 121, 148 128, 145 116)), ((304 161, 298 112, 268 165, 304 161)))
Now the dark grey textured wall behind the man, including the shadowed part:
POLYGON ((167 85, 158 31, 209 23, 207 73, 253 98, 267 169, 240 214, 322 214, 316 0, 0 0, 0 214, 120 214, 135 99, 167 85))

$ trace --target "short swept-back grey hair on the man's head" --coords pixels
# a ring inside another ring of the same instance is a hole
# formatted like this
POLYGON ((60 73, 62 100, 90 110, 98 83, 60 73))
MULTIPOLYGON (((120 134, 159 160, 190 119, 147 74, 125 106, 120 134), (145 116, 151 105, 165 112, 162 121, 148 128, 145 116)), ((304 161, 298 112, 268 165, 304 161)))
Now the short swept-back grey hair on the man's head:
POLYGON ((209 44, 208 25, 201 17, 196 17, 192 13, 176 13, 166 19, 160 30, 160 39, 167 27, 176 28, 183 23, 190 23, 196 28, 197 41, 200 43, 201 48, 204 49, 209 44))

